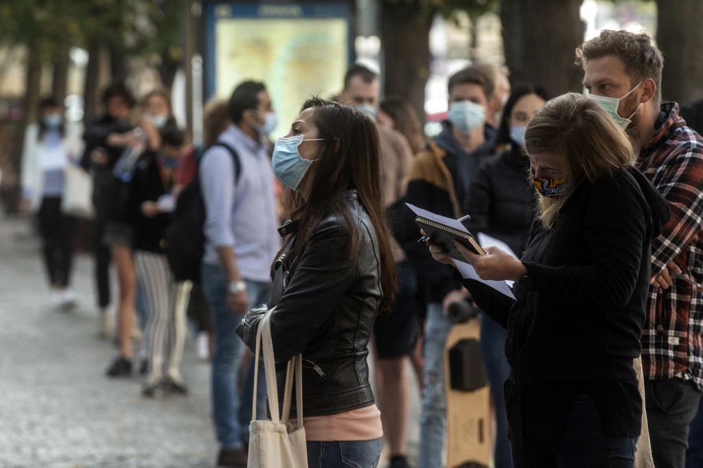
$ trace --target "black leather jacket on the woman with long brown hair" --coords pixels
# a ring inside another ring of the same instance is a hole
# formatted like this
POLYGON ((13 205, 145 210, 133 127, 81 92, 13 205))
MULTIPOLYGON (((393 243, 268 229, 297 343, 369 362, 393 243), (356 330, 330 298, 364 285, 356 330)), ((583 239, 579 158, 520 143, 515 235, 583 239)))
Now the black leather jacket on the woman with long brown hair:
MULTIPOLYGON (((271 301, 249 311, 237 327, 237 334, 254 351, 260 320, 276 306, 271 316, 273 353, 277 364, 302 353, 305 417, 374 403, 366 358, 382 294, 378 239, 356 190, 347 190, 344 197, 359 238, 356 256, 347 256, 350 233, 344 217, 330 214, 299 258, 284 252, 276 260, 271 301)), ((280 228, 281 234, 288 235, 283 230, 291 230, 290 226, 280 228)), ((280 372, 281 366, 278 370, 282 397, 285 372, 280 372)), ((295 417, 295 398, 292 406, 295 417)))

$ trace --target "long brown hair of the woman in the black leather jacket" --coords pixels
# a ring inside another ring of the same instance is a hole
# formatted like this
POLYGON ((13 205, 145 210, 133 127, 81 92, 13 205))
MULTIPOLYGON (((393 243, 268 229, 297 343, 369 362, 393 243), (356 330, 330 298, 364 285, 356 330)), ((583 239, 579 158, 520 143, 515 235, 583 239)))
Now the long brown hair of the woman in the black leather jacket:
MULTIPOLYGON (((315 171, 305 176, 313 177, 312 180, 302 181, 309 184, 307 200, 297 191, 285 191, 285 207, 291 219, 299 219, 300 226, 312 228, 299 230, 291 254, 297 256, 309 243, 318 223, 330 213, 337 212, 344 216, 351 233, 347 255, 350 259, 354 258, 359 248, 359 238, 352 213, 344 200, 344 190, 356 189, 378 237, 383 292, 379 311, 390 310, 398 285, 389 240, 390 230, 383 209, 376 126, 349 105, 314 97, 305 101, 301 112, 309 108, 314 109, 314 124, 318 129, 318 138, 323 138, 323 141, 315 171)), ((283 249, 289 242, 290 238, 285 241, 283 249)))

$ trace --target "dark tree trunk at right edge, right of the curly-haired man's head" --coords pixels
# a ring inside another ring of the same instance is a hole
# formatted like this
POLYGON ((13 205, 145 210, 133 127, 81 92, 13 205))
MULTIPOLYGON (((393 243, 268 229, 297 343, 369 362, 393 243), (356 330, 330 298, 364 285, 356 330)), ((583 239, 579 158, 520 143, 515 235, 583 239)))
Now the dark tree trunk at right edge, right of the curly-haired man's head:
POLYGON ((657 44, 664 53, 664 100, 703 97, 703 1, 657 0, 657 44))

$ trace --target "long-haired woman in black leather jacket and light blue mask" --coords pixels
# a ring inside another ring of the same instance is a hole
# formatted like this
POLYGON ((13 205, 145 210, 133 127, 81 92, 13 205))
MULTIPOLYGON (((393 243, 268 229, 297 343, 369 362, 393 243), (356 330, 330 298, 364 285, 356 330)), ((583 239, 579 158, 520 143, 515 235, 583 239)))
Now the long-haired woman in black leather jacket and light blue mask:
MULTIPOLYGON (((368 341, 396 291, 375 124, 352 107, 312 98, 276 141, 272 164, 288 187, 293 221, 279 229, 285 241, 271 301, 247 313, 237 333, 253 351, 260 320, 275 306, 276 362, 302 353, 309 465, 375 467, 382 429, 368 341)), ((283 395, 285 379, 278 380, 283 395)))

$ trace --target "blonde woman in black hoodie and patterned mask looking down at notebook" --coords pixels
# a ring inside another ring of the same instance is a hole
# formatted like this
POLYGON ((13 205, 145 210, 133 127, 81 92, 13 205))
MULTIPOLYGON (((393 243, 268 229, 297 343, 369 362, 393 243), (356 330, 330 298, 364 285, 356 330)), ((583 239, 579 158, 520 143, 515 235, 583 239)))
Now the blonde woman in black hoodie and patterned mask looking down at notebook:
MULTIPOLYGON (((515 281, 515 300, 462 281, 508 330, 513 466, 633 467, 643 411, 633 360, 650 242, 669 208, 634 169, 625 132, 585 96, 548 101, 525 148, 539 212, 522 259, 457 247, 484 280, 515 281)), ((441 247, 430 252, 448 262, 441 247)))

